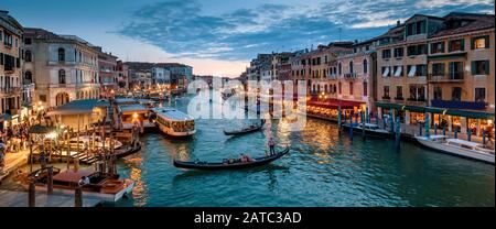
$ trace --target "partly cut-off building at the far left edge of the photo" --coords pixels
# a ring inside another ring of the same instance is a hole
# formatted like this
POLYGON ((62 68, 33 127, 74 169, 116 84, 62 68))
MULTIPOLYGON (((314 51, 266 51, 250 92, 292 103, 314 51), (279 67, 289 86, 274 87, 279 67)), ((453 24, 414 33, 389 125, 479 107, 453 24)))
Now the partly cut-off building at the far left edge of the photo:
POLYGON ((0 11, 0 130, 21 118, 23 31, 8 11, 0 11))

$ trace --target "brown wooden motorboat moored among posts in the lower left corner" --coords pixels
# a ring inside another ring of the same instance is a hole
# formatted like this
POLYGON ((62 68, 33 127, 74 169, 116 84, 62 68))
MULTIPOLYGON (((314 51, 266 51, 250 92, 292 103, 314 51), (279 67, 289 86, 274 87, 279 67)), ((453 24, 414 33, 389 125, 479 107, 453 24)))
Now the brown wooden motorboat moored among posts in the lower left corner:
MULTIPOLYGON (((111 175, 101 172, 87 170, 65 170, 53 168, 53 193, 63 195, 74 195, 74 190, 79 179, 86 176, 89 184, 82 187, 84 198, 95 198, 101 201, 116 203, 125 195, 132 192, 134 181, 120 179, 119 175, 111 175)), ((47 190, 48 173, 46 168, 40 168, 29 174, 34 178, 36 192, 47 190)), ((23 186, 28 187, 28 179, 24 179, 23 186)))

